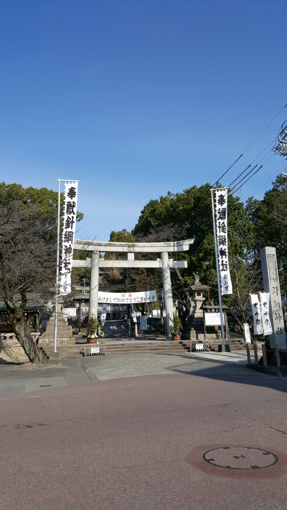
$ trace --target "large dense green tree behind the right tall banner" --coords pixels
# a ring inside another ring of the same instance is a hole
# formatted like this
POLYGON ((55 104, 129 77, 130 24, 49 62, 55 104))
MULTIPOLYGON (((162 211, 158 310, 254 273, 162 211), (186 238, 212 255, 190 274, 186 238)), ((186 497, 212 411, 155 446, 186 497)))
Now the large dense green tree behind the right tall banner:
MULTIPOLYGON (((242 271, 245 270, 246 249, 252 240, 252 225, 239 198, 228 196, 228 210, 230 267, 231 272, 236 269, 241 281, 242 271)), ((185 322, 190 308, 190 286, 194 273, 199 274, 202 283, 211 286, 211 298, 217 300, 210 184, 204 184, 199 188, 193 186, 182 193, 168 192, 165 197, 150 200, 143 208, 133 234, 137 240, 139 238, 151 240, 150 235, 162 241, 180 240, 182 237, 194 238, 188 252, 177 254, 178 260, 188 261, 188 269, 171 271, 173 294, 179 303, 182 322, 185 322), (182 226, 185 226, 185 232, 182 232, 182 226)), ((226 304, 231 306, 233 297, 228 297, 226 304)), ((244 309, 244 304, 242 308, 244 309)))

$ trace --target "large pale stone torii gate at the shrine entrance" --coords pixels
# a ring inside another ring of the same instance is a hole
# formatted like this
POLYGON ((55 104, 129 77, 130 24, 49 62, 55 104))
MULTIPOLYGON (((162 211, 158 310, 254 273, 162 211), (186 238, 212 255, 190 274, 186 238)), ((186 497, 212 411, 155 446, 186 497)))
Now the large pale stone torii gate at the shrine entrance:
POLYGON ((173 324, 173 299, 170 279, 170 268, 186 268, 186 261, 173 261, 168 258, 169 252, 187 251, 193 239, 160 243, 114 243, 101 241, 86 241, 75 239, 74 249, 92 251, 92 258, 73 260, 73 267, 91 268, 89 319, 94 314, 97 317, 99 268, 161 268, 163 278, 164 301, 166 310, 167 337, 171 336, 173 324), (100 252, 127 253, 126 260, 100 259, 100 252), (160 253, 158 260, 135 260, 135 253, 160 253))

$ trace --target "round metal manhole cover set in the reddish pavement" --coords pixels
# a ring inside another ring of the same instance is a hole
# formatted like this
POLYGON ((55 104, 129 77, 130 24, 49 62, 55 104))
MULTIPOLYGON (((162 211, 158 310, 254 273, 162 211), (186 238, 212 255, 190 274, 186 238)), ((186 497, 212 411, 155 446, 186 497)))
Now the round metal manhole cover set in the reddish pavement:
POLYGON ((204 461, 227 469, 261 469, 278 462, 274 453, 248 446, 222 446, 203 454, 204 461))

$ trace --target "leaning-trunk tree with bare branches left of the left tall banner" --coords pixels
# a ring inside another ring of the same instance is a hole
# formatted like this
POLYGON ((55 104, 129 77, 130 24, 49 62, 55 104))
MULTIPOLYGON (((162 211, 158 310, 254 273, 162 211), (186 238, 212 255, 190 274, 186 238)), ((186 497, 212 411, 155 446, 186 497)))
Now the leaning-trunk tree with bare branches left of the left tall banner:
POLYGON ((30 292, 37 291, 45 302, 55 293, 57 202, 53 190, 0 183, 0 295, 32 363, 45 363, 45 358, 23 313, 30 292))

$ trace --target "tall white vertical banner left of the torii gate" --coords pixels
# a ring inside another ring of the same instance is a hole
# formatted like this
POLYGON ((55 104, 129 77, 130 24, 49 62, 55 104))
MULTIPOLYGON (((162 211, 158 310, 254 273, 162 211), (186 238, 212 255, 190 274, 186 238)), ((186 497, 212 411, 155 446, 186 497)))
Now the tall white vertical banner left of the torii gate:
POLYGON ((76 230, 77 182, 64 183, 65 211, 62 238, 61 280, 59 294, 71 292, 73 245, 76 230))

